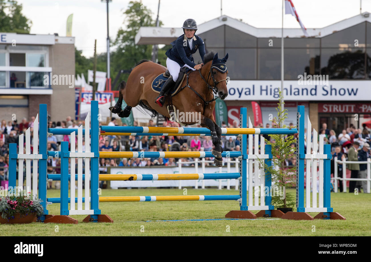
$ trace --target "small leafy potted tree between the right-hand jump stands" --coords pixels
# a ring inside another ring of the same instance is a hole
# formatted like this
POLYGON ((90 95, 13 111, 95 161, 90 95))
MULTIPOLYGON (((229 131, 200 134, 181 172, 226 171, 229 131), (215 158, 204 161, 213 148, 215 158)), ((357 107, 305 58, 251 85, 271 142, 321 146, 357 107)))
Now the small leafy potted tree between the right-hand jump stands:
MULTIPOLYGON (((278 127, 292 129, 294 126, 286 126, 283 124, 287 118, 286 109, 282 110, 281 107, 282 93, 279 92, 279 102, 277 110, 277 117, 274 117, 272 123, 276 123, 278 127)), ((283 103, 284 104, 284 103, 283 103)), ((272 145, 272 166, 267 166, 264 159, 259 159, 259 162, 265 166, 265 169, 270 172, 272 179, 272 187, 283 188, 283 195, 272 196, 272 205, 276 207, 294 207, 295 195, 286 193, 286 187, 293 187, 296 179, 296 165, 288 168, 286 165, 286 158, 295 155, 296 147, 292 144, 296 143, 296 138, 293 135, 270 135, 271 141, 265 139, 267 145, 272 145), (285 167, 287 169, 285 169, 285 167)), ((263 145, 264 146, 264 145, 263 145)))

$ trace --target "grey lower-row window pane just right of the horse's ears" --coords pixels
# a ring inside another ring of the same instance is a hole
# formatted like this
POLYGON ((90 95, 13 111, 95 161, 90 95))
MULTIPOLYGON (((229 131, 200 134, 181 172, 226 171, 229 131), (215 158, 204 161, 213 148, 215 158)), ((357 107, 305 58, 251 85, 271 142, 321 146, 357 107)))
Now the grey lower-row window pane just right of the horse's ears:
MULTIPOLYGON (((226 48, 227 68, 231 80, 256 79, 256 48, 226 48)), ((219 54, 219 57, 224 57, 219 54)))

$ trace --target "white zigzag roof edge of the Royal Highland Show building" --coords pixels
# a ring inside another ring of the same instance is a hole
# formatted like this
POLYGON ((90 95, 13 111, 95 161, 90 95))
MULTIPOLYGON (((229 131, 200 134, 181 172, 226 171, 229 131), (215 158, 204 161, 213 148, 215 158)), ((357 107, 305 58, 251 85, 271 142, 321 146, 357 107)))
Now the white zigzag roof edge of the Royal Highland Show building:
MULTIPOLYGON (((371 23, 370 13, 368 12, 364 12, 362 14, 358 14, 356 16, 341 20, 332 25, 325 26, 324 28, 307 28, 307 32, 311 37, 323 37, 365 21, 371 23)), ((219 16, 215 19, 198 25, 197 34, 210 31, 222 25, 230 26, 234 29, 240 30, 257 38, 281 37, 281 28, 256 28, 226 15, 219 16)), ((182 34, 183 29, 181 28, 144 26, 139 28, 138 33, 135 36, 135 44, 169 44, 182 34)), ((304 35, 301 28, 284 28, 283 37, 300 38, 304 37, 304 35)))

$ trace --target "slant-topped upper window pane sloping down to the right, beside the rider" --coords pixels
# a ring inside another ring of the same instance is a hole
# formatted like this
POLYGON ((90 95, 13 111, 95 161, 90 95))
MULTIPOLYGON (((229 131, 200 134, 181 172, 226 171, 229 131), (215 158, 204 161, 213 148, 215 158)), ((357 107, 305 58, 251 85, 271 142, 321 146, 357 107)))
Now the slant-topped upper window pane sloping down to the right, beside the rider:
POLYGON ((256 37, 226 26, 226 47, 256 47, 256 37))

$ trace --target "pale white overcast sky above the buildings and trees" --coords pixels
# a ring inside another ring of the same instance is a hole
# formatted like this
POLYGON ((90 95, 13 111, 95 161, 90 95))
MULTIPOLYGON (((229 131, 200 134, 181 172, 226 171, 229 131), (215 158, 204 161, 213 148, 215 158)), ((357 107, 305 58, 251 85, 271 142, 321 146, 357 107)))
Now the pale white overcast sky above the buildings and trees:
MULTIPOLYGON (((306 28, 323 28, 360 12, 360 0, 292 0, 296 11, 306 28)), ((18 0, 23 4, 23 14, 32 20, 30 33, 66 36, 66 20, 73 14, 72 36, 75 46, 90 57, 94 53, 94 39, 97 52, 106 52, 107 16, 106 3, 101 0, 18 0)), ((116 37, 119 28, 125 28, 124 11, 128 0, 112 0, 109 3, 109 36, 116 37)), ((142 0, 156 19, 158 0, 142 0)), ((181 27, 184 20, 193 18, 198 24, 207 22, 222 14, 242 19, 257 28, 280 28, 282 17, 281 0, 161 0, 159 17, 163 27, 181 27), (222 2, 222 4, 221 4, 222 2), (197 4, 194 4, 197 3, 197 4)), ((371 13, 371 0, 362 0, 362 12, 371 13)), ((284 28, 300 28, 291 15, 285 15, 284 28)))

